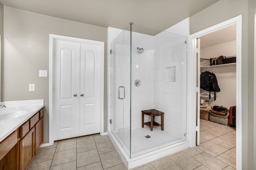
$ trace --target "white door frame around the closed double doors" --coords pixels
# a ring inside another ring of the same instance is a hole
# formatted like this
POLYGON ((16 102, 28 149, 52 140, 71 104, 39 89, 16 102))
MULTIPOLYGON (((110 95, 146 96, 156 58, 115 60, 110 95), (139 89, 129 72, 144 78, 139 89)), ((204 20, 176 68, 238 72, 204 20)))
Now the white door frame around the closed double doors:
POLYGON ((49 34, 49 145, 54 143, 54 40, 99 45, 100 51, 100 134, 104 133, 104 42, 49 34))

